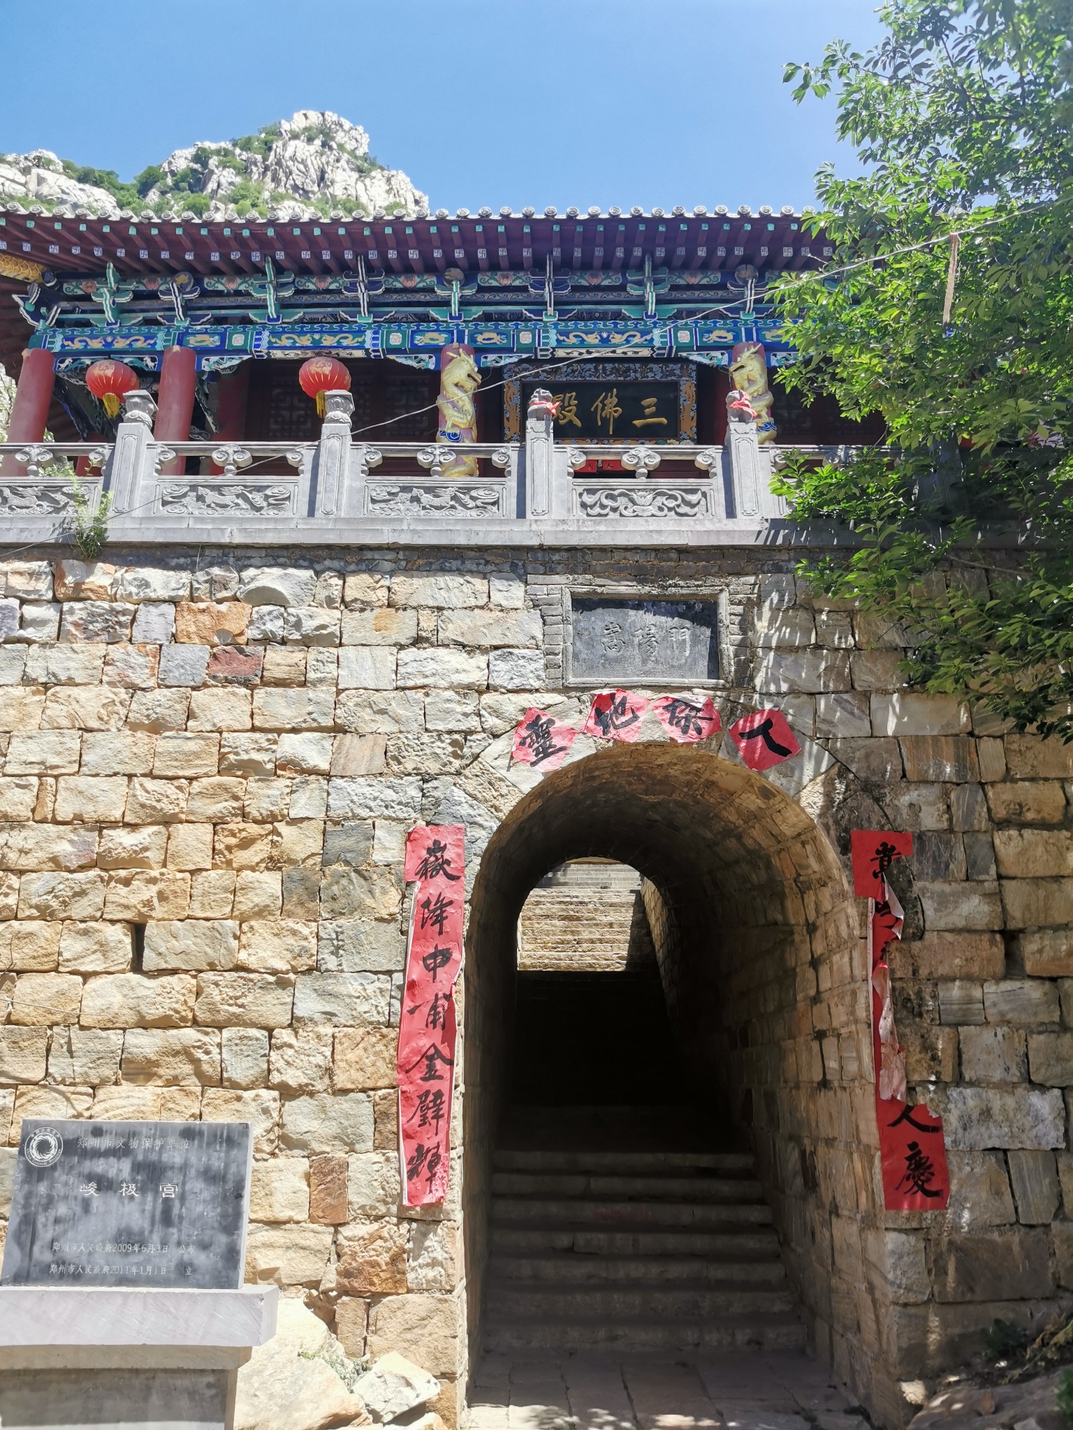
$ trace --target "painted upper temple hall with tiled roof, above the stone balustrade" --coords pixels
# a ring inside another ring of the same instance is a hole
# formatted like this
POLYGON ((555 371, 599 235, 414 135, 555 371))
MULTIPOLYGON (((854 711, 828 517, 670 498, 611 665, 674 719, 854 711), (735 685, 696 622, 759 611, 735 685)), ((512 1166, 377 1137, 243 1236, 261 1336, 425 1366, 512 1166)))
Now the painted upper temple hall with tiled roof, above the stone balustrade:
POLYGON ((793 349, 755 293, 831 252, 788 210, 319 225, 19 213, 0 216, 0 362, 49 355, 24 369, 10 440, 40 440, 43 415, 57 438, 109 436, 84 375, 114 358, 156 395, 162 440, 312 442, 318 413, 296 373, 318 353, 346 368, 359 432, 432 440, 441 355, 459 346, 481 379, 481 442, 518 440, 529 393, 551 383, 561 440, 721 443, 735 349, 754 355, 761 390, 771 375, 770 439, 877 435, 777 380, 793 349))

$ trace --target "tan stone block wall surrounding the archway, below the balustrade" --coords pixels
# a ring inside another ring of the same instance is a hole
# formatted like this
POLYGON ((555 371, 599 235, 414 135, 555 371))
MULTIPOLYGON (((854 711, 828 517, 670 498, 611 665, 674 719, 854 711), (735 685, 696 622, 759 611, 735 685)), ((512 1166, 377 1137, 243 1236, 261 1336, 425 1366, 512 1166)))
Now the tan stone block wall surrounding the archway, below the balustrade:
MULTIPOLYGON (((871 1105, 871 1071, 844 878, 712 855, 737 871, 741 958, 710 1075, 734 1080, 811 1333, 893 1423, 897 1380, 996 1316, 1044 1317, 1073 1290, 1073 751, 901 689, 901 636, 813 599, 790 566, 733 548, 0 561, 3 1213, 23 1117, 246 1120, 248 1278, 308 1297, 352 1356, 425 1366, 454 1423, 485 1236, 462 1213, 482 1050, 462 1041, 448 1200, 406 1211, 405 834, 465 824, 472 887, 539 785, 509 765, 515 722, 587 706, 567 685, 572 596, 718 598, 724 728, 778 705, 803 755, 764 779, 718 739, 667 759, 748 781, 771 848, 807 822, 833 868, 854 825, 917 839, 896 1012, 916 1097, 946 1117, 949 1214, 881 1210, 874 1128, 847 1111, 871 1105), (783 940, 785 909, 811 961, 783 940)), ((640 762, 654 742, 655 724, 640 762)), ((604 759, 581 738, 564 772, 604 759)), ((700 985, 650 922, 668 1000, 688 1005, 700 985)))

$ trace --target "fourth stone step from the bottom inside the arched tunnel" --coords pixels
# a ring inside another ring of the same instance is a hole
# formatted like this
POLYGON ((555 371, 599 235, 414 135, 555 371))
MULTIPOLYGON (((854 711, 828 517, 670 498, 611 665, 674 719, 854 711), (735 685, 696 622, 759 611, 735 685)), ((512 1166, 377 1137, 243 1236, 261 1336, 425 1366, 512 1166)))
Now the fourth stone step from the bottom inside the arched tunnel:
POLYGON ((587 1257, 771 1257, 778 1256, 774 1227, 674 1228, 592 1227, 562 1221, 498 1223, 491 1228, 494 1253, 572 1251, 587 1257))

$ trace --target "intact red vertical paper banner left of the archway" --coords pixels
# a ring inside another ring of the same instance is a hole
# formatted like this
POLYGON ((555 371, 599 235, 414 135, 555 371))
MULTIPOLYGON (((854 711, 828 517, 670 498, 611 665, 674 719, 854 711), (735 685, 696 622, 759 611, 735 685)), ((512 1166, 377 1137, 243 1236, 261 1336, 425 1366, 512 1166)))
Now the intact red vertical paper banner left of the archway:
POLYGON ((455 982, 462 968, 465 831, 418 825, 406 837, 406 879, 416 881, 399 1017, 399 1158, 408 1207, 442 1201, 451 1171, 455 1090, 455 982))

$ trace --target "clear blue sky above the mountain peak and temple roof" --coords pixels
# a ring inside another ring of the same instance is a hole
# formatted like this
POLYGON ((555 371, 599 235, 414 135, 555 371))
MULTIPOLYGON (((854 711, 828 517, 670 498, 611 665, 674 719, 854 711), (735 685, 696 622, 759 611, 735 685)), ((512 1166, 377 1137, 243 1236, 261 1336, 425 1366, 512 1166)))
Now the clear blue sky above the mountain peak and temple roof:
POLYGON ((880 33, 873 0, 3 0, 3 31, 0 152, 129 179, 330 109, 474 210, 808 203, 853 156, 783 63, 880 33))

